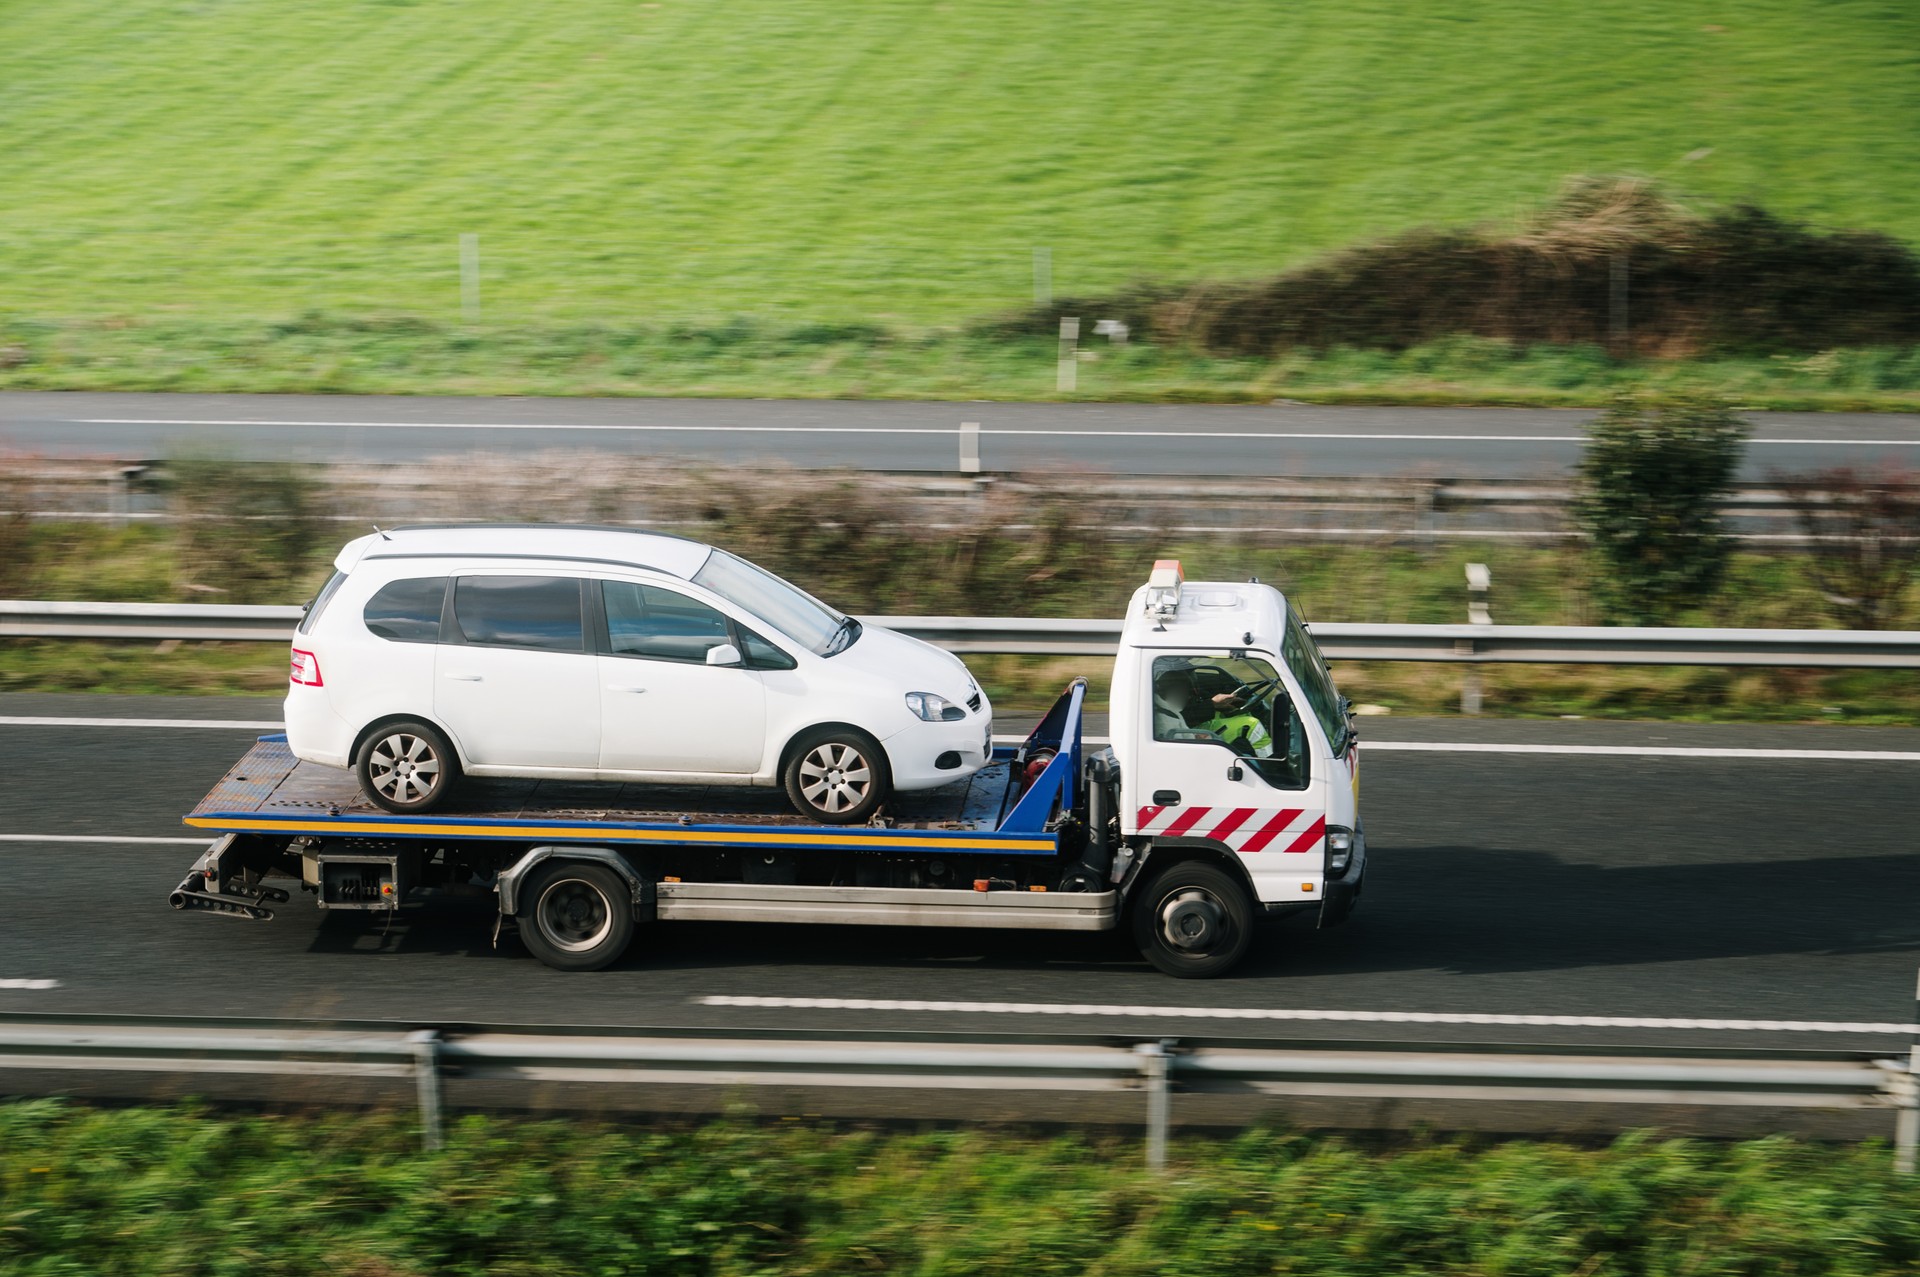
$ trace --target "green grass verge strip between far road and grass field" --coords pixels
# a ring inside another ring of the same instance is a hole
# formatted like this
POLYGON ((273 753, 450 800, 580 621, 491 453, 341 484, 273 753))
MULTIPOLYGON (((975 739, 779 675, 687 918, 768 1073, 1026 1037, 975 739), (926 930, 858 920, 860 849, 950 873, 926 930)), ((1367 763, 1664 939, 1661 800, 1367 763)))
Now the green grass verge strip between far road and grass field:
MULTIPOLYGON (((1094 315, 1083 326, 1091 328, 1094 315)), ((1073 392, 1050 340, 864 323, 463 326, 413 315, 36 321, 0 315, 0 390, 528 394, 1142 403, 1599 407, 1622 390, 1745 409, 1920 411, 1920 349, 1615 359, 1584 346, 1450 338, 1404 351, 1231 359, 1106 338, 1073 392)))

